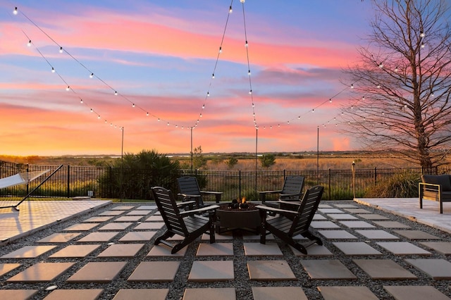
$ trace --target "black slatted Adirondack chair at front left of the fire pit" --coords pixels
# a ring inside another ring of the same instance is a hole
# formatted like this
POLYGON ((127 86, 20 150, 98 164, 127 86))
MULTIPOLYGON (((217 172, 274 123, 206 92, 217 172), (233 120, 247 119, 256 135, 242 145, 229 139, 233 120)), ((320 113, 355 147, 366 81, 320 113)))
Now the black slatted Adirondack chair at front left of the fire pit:
POLYGON ((170 246, 172 248, 171 253, 175 254, 204 232, 209 232, 211 244, 215 242, 214 222, 218 205, 206 206, 192 211, 180 211, 170 190, 164 187, 152 187, 152 194, 166 225, 166 232, 161 237, 156 238, 156 245, 163 243, 166 246, 170 246), (198 213, 206 212, 209 213, 209 218, 197 215, 198 213), (175 234, 181 235, 185 239, 175 245, 166 241, 166 239, 173 237, 175 234))

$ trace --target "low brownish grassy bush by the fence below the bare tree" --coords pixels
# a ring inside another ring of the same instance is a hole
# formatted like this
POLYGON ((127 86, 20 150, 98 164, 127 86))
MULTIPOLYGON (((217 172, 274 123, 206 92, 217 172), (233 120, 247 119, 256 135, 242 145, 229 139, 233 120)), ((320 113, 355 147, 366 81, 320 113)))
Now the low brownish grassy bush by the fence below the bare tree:
POLYGON ((418 197, 418 183, 421 181, 417 173, 404 172, 395 174, 376 186, 370 187, 366 198, 415 198, 418 197))

